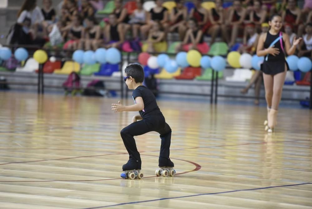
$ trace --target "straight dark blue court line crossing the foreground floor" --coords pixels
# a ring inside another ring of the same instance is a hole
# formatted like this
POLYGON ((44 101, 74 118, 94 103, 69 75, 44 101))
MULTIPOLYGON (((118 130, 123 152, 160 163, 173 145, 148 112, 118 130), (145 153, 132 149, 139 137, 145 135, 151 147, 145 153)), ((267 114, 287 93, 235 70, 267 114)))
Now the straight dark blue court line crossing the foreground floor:
POLYGON ((159 199, 154 199, 154 200, 144 200, 144 201, 136 201, 136 202, 124 202, 124 203, 119 203, 119 204, 115 204, 115 205, 88 207, 88 208, 82 208, 82 209, 96 209, 96 208, 114 207, 114 206, 121 206, 121 205, 138 204, 138 203, 143 203, 143 202, 154 202, 154 201, 161 201, 161 200, 180 199, 180 198, 185 198, 185 197, 195 197, 195 196, 203 196, 203 195, 218 195, 218 194, 232 193, 232 192, 238 192, 238 191, 253 191, 253 190, 271 189, 271 188, 278 188, 278 187, 300 186, 300 185, 306 185, 306 184, 312 184, 312 183, 290 184, 290 185, 281 185, 281 186, 267 186, 267 187, 259 187, 259 188, 252 188, 252 189, 238 189, 238 190, 231 190, 231 191, 202 193, 202 194, 196 194, 196 195, 166 197, 166 198, 159 198, 159 199))

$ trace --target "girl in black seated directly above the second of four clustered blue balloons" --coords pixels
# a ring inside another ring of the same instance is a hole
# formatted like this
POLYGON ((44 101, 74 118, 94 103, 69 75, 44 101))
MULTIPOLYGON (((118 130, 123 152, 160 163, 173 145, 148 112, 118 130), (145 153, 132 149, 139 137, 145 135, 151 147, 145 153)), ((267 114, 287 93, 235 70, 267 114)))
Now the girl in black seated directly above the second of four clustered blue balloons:
POLYGON ((103 37, 101 38, 101 27, 97 24, 94 17, 88 17, 85 19, 85 50, 96 50, 102 43, 103 37))

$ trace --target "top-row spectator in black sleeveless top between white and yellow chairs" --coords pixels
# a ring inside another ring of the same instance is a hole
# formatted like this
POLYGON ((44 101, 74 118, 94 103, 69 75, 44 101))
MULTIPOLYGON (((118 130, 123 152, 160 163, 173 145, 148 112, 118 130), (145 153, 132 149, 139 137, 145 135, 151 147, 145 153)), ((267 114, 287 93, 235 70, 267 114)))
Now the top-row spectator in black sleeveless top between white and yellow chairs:
POLYGON ((156 7, 152 8, 146 18, 146 25, 141 26, 141 35, 146 38, 149 30, 153 27, 154 21, 159 21, 165 32, 168 32, 168 10, 163 7, 163 0, 155 0, 156 7))

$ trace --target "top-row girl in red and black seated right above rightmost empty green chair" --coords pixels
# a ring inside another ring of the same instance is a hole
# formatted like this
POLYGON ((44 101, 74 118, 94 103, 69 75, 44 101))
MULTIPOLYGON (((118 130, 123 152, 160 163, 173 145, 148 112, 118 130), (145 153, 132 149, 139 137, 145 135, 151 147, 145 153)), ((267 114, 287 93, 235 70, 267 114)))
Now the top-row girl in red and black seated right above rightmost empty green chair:
MULTIPOLYGON (((208 28, 207 33, 211 36, 210 45, 212 45, 217 35, 220 32, 222 24, 224 24, 224 16, 223 16, 223 0, 216 0, 216 8, 212 8, 208 12, 208 21, 211 23, 211 26, 208 28)), ((222 37, 226 41, 226 31, 222 31, 222 37)))

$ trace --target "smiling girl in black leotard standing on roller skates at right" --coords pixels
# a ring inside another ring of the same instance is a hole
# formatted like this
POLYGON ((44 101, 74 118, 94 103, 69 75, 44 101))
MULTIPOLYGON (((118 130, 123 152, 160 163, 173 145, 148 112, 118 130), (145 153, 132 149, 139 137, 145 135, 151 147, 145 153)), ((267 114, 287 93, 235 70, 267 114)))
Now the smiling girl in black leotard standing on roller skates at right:
POLYGON ((257 55, 259 57, 265 57, 261 65, 261 71, 263 72, 268 109, 266 130, 272 132, 276 125, 277 110, 286 71, 289 69, 285 56, 295 53, 296 46, 300 43, 302 38, 294 38, 293 45, 290 45, 289 36, 286 33, 280 32, 282 28, 282 18, 280 15, 272 15, 269 24, 271 28, 268 33, 262 33, 259 38, 257 55), (277 38, 280 38, 280 40, 277 38), (277 42, 273 44, 275 40, 277 40, 277 42))

